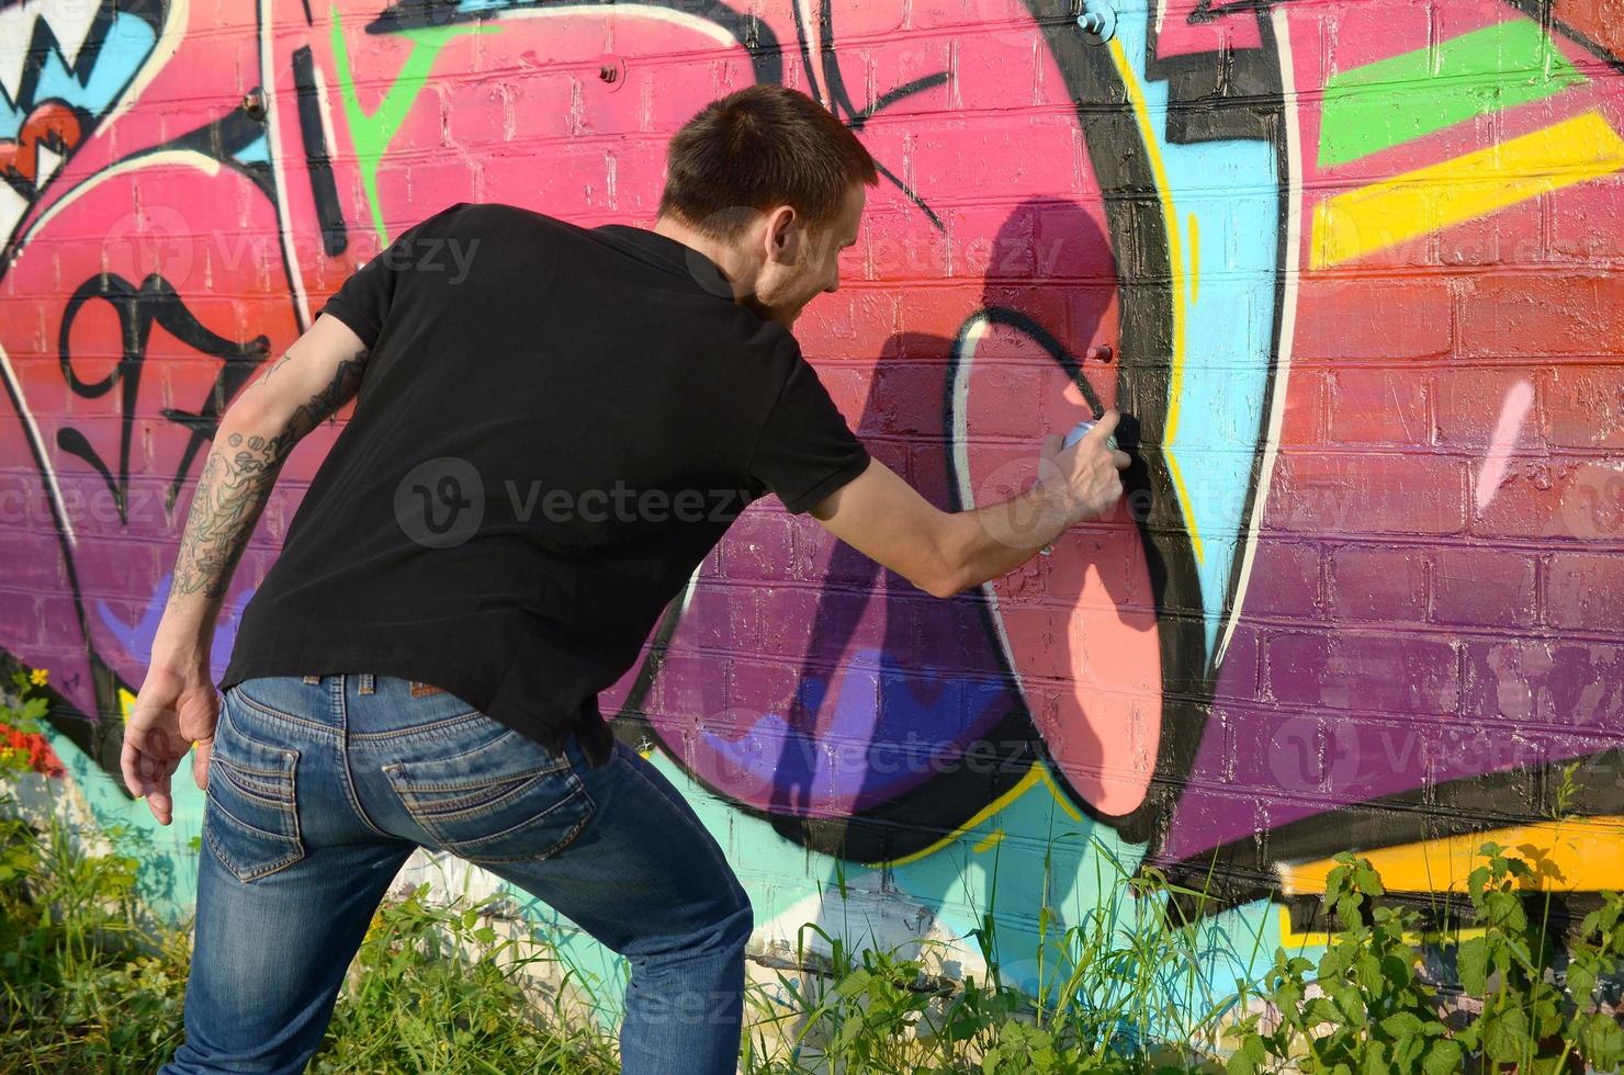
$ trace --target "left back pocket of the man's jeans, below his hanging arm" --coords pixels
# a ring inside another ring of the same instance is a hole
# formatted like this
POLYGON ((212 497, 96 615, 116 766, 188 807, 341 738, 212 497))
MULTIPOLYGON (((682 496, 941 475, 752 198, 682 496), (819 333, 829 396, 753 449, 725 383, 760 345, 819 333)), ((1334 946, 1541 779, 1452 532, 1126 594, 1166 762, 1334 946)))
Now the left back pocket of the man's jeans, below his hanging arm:
POLYGON ((203 838, 237 880, 248 882, 304 857, 296 775, 299 750, 261 742, 232 719, 226 692, 205 788, 203 838))

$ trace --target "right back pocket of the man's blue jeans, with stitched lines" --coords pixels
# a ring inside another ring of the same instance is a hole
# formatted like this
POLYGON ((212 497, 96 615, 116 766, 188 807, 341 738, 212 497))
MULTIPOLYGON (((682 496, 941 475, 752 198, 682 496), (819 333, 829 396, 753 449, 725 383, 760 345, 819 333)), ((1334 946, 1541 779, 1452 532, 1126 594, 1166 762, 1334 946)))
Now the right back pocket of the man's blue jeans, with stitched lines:
POLYGON ((461 753, 385 765, 383 773, 434 843, 469 862, 546 859, 594 812, 570 757, 513 729, 461 753))

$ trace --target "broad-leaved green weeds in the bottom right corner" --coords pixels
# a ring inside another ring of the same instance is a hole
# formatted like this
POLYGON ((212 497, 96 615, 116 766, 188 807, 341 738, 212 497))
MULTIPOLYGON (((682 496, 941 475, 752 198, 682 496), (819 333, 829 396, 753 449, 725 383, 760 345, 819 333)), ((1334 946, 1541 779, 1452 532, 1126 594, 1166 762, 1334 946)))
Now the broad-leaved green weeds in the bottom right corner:
MULTIPOLYGON (((1564 770, 1553 831, 1577 794, 1574 771, 1564 770)), ((1484 861, 1466 879, 1465 927, 1473 935, 1462 939, 1457 924, 1447 942, 1462 987, 1481 1004, 1462 1030, 1450 1030, 1436 991, 1418 978, 1421 952, 1406 937, 1419 932, 1419 914, 1377 906, 1387 893, 1376 867, 1343 853, 1325 879, 1325 904, 1341 929, 1317 965, 1276 948, 1260 989, 1276 1017, 1254 1012, 1231 1028, 1229 1072, 1616 1070, 1624 1028, 1596 994, 1624 966, 1624 898, 1603 892, 1601 906, 1564 945, 1551 929, 1554 885, 1544 883, 1562 880, 1561 870, 1536 846, 1509 851, 1494 841, 1478 849, 1484 861), (1543 909, 1533 917, 1527 896, 1541 888, 1543 909)))

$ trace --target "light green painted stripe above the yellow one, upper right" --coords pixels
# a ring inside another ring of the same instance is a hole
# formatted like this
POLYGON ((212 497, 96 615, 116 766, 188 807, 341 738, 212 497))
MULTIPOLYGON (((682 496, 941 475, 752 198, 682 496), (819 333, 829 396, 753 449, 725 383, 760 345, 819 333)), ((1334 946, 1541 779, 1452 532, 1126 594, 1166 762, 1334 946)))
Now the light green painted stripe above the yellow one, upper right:
POLYGON ((1320 167, 1562 93, 1587 80, 1525 18, 1333 75, 1320 112, 1320 167))

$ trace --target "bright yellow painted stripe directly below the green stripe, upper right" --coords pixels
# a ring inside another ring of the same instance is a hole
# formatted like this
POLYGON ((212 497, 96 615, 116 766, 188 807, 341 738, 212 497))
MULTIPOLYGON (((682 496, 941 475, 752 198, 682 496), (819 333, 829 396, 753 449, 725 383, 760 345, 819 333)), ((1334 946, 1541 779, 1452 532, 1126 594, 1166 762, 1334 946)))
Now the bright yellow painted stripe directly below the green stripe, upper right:
POLYGON ((1624 167, 1596 112, 1320 201, 1312 263, 1328 268, 1624 167))

